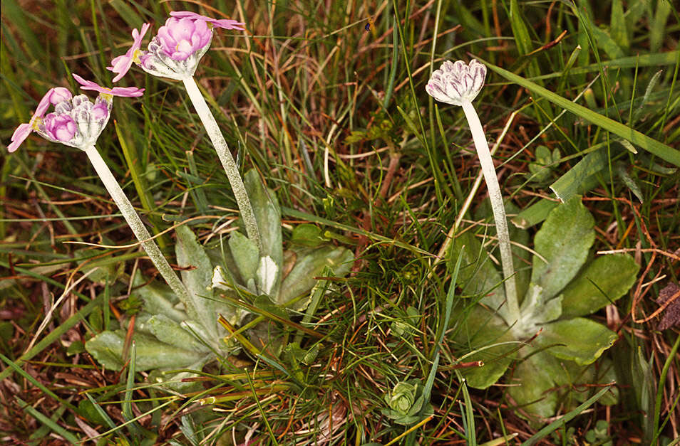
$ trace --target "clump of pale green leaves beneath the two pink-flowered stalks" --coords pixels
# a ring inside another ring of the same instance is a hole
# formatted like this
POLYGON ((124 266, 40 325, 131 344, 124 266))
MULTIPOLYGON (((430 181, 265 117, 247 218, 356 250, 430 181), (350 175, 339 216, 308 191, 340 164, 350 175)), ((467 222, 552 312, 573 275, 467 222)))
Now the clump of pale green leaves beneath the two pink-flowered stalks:
MULTIPOLYGON (((206 248, 186 225, 176 229, 177 263, 182 267, 182 282, 189 290, 195 314, 189 314, 163 285, 152 282, 135 290, 144 302, 143 311, 135 317, 136 369, 155 369, 154 376, 159 381, 171 378, 174 388, 182 388, 177 379, 190 373, 161 378, 160 371, 200 370, 206 363, 225 360, 241 348, 218 323, 218 317, 232 327, 242 325, 246 318, 258 317, 256 309, 286 318, 287 310, 302 311, 309 304, 314 294, 310 290, 319 282, 316 277, 329 271, 334 277, 343 277, 354 260, 349 250, 329 243, 284 250, 281 209, 274 191, 266 189, 253 170, 246 174, 245 186, 262 234, 262 250, 239 232, 231 233, 227 243, 206 248), (248 311, 248 305, 253 312, 248 311)), ((134 283, 143 285, 145 280, 135 277, 134 283)), ((280 344, 280 339, 272 338, 280 329, 267 318, 260 318, 262 322, 244 332, 252 337, 248 347, 267 345, 268 352, 275 351, 273 346, 280 344)), ((86 342, 86 349, 105 368, 119 370, 123 366, 127 324, 86 342)))

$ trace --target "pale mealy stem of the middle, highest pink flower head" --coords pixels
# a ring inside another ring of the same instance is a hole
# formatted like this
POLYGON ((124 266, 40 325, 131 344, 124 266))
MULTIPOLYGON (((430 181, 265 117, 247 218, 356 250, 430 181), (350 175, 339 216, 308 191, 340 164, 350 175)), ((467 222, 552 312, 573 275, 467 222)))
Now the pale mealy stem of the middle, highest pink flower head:
POLYGON ((260 253, 262 253, 262 244, 259 237, 259 229, 257 228, 257 221, 255 220, 255 214, 252 211, 252 205, 250 204, 250 198, 248 198, 248 193, 243 184, 243 180, 239 175, 239 169, 234 161, 234 157, 231 152, 229 152, 229 147, 227 147, 227 142, 225 137, 222 136, 220 132, 220 127, 215 121, 215 117, 212 116, 212 112, 205 103, 203 95, 196 85, 196 81, 193 77, 184 79, 184 86, 187 89, 187 93, 194 104, 194 108, 198 113, 198 116, 203 122, 203 127, 205 127, 205 132, 210 137, 212 141, 212 146, 215 147, 215 152, 217 152, 217 157, 220 158, 222 167, 225 169, 225 174, 227 174, 227 179, 232 186, 232 191, 234 191, 234 196, 236 198, 236 203, 239 206, 239 211, 241 211, 241 218, 245 224, 246 233, 248 238, 258 246, 260 253))

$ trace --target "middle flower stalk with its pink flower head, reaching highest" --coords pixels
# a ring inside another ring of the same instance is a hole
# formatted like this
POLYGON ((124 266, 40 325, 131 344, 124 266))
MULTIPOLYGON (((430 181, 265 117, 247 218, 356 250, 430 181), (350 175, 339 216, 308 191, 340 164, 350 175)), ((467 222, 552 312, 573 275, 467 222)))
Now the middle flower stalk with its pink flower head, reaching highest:
POLYGON ((134 62, 151 75, 181 80, 184 83, 205 132, 210 137, 217 157, 225 169, 241 211, 246 233, 262 250, 257 222, 236 161, 193 78, 200 59, 210 48, 214 28, 243 30, 239 26, 242 24, 230 19, 217 20, 200 16, 189 11, 172 11, 165 25, 161 26, 158 34, 151 39, 148 51, 140 50, 142 38, 149 28, 148 23, 145 23, 141 32, 133 30, 133 46, 127 53, 114 58, 108 70, 117 73, 113 78, 113 82, 116 82, 127 73, 134 62))

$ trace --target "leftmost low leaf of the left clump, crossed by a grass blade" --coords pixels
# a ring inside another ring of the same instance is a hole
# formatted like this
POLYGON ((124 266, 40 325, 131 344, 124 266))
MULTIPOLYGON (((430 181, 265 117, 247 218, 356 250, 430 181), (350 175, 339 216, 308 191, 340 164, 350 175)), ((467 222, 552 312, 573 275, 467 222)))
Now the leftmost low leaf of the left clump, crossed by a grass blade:
MULTIPOLYGON (((196 351, 188 351, 165 344, 153 336, 141 333, 136 333, 133 339, 137 344, 136 369, 138 371, 151 370, 152 368, 185 368, 200 361, 205 356, 196 351)), ((123 368, 121 358, 124 342, 125 331, 102 331, 87 341, 85 348, 104 368, 118 371, 123 368)))

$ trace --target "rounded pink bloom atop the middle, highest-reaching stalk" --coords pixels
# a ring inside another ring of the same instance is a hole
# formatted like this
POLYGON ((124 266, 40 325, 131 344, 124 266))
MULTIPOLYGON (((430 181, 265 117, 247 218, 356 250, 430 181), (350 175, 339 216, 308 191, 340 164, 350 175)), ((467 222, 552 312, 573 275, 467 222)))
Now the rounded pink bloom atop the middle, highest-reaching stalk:
POLYGON ((163 52, 173 60, 187 60, 193 53, 210 44, 212 29, 203 20, 170 17, 158 29, 163 52))

